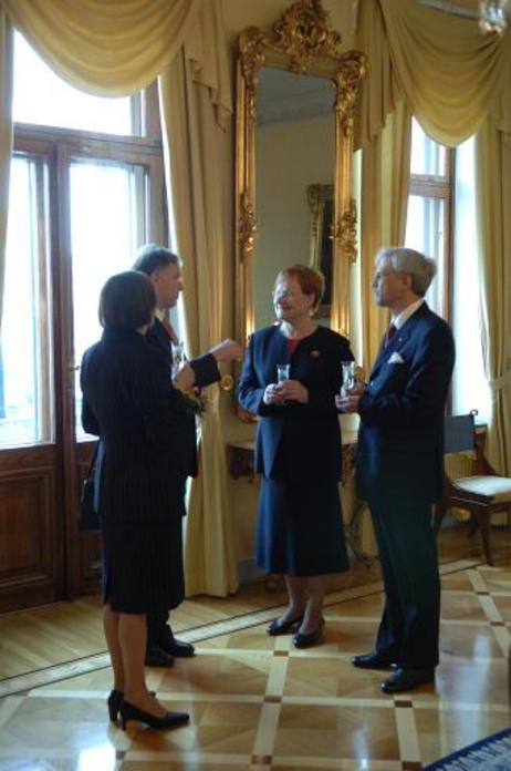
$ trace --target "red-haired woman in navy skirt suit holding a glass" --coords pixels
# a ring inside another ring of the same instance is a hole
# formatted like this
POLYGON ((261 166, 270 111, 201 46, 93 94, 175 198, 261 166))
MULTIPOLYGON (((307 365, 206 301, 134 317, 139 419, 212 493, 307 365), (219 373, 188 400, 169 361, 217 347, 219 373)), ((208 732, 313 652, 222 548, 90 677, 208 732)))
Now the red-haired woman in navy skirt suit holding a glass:
POLYGON ((320 641, 326 574, 348 561, 338 495, 341 431, 335 394, 342 361, 353 360, 348 341, 314 320, 324 290, 321 273, 302 265, 277 276, 278 323, 251 337, 239 401, 259 415, 255 467, 262 474, 257 562, 283 574, 285 613, 270 635, 296 631, 305 648, 320 641), (277 382, 278 364, 289 380, 277 382))

